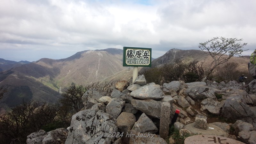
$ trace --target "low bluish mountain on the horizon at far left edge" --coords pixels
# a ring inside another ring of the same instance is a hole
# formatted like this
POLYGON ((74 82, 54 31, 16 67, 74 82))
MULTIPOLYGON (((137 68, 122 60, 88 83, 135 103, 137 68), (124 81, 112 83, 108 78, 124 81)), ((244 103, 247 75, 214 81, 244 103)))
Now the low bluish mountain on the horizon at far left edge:
POLYGON ((29 61, 12 61, 12 60, 4 60, 0 58, 0 71, 9 70, 11 68, 19 67, 24 64, 30 63, 29 61))

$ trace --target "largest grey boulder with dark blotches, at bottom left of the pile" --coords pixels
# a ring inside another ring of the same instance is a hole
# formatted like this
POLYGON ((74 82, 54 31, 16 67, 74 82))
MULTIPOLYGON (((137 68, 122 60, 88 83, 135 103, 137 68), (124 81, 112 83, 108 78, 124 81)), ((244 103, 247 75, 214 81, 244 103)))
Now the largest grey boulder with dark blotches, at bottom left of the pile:
POLYGON ((72 116, 65 144, 113 143, 116 137, 107 137, 105 133, 117 131, 117 122, 113 116, 103 112, 86 109, 72 116))

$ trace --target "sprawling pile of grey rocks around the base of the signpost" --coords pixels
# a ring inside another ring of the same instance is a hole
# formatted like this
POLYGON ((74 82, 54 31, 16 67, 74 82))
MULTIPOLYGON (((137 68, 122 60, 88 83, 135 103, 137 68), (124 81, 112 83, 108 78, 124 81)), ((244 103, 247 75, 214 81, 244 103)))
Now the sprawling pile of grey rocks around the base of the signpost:
POLYGON ((180 135, 218 135, 251 144, 256 142, 255 90, 256 80, 247 87, 235 81, 227 84, 172 81, 160 86, 147 84, 143 75, 130 86, 126 81, 117 83, 110 96, 90 89, 82 97, 85 110, 72 116, 66 143, 117 144, 142 140, 166 143, 164 139, 169 135, 170 120, 179 109, 174 127, 180 129, 180 135), (198 102, 201 102, 199 109, 196 108, 198 102), (207 114, 237 122, 207 124, 207 114), (250 128, 246 124, 250 124, 250 128), (229 134, 230 127, 235 129, 238 137, 229 134))

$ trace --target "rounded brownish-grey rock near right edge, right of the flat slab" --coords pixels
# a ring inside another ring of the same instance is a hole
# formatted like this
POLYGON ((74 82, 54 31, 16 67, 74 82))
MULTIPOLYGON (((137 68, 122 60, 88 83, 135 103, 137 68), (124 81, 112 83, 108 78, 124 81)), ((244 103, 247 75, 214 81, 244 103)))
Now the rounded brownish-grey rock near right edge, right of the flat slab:
POLYGON ((241 131, 253 131, 253 125, 243 122, 242 120, 237 120, 236 123, 232 124, 232 127, 235 129, 235 132, 241 132, 241 131))

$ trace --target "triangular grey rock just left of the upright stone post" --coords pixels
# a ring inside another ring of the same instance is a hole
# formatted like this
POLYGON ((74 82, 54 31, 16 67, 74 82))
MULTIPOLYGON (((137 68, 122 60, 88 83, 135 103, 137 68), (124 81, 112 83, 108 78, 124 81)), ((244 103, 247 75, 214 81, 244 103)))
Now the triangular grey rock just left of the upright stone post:
POLYGON ((158 131, 154 122, 143 113, 132 127, 132 130, 140 133, 155 133, 158 131))

